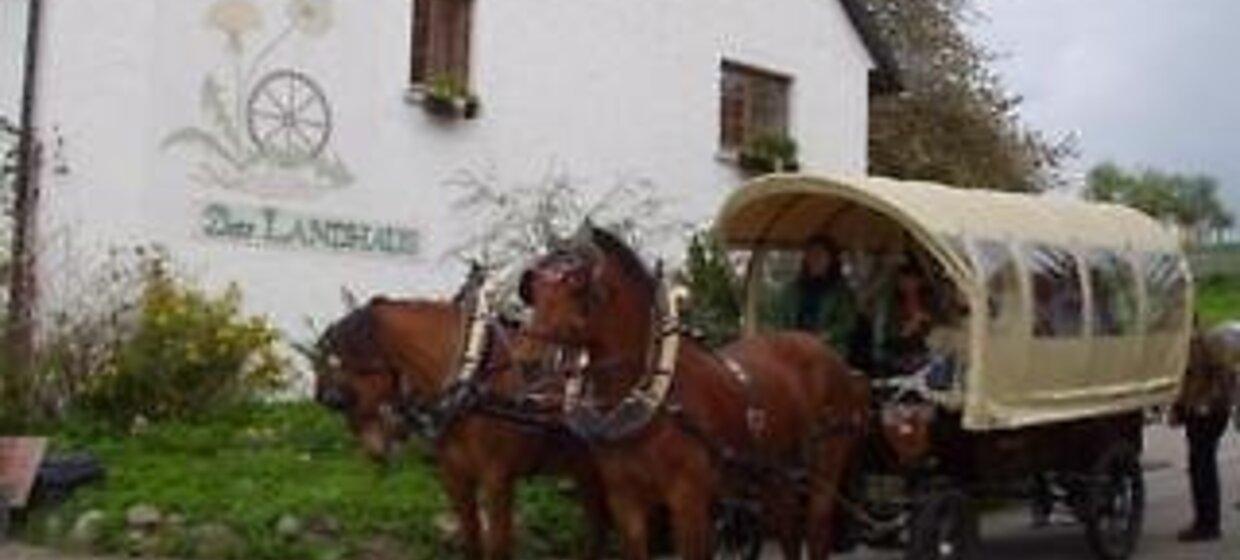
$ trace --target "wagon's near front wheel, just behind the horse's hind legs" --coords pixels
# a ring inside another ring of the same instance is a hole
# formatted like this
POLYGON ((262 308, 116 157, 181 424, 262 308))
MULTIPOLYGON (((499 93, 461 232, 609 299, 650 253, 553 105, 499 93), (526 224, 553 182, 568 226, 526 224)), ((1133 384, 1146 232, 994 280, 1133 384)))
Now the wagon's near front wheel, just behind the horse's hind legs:
POLYGON ((909 522, 906 560, 965 560, 977 556, 977 514, 961 491, 931 491, 916 501, 909 522))

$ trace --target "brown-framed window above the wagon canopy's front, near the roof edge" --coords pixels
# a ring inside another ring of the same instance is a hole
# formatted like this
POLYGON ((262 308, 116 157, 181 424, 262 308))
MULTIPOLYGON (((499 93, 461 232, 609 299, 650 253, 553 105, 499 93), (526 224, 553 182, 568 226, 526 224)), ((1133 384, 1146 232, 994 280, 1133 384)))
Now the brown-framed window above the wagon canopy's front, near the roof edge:
POLYGON ((790 89, 787 77, 724 62, 719 84, 719 147, 739 151, 759 136, 787 136, 790 89))

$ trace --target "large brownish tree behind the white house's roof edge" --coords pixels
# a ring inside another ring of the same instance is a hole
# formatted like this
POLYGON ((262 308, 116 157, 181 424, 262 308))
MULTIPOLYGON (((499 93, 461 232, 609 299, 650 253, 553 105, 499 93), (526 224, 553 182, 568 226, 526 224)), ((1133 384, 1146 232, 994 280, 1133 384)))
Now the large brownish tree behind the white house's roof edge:
POLYGON ((994 55, 967 33, 978 17, 972 0, 867 2, 904 85, 870 100, 873 173, 1004 191, 1064 183, 1073 139, 1021 123, 1021 98, 991 69, 994 55))

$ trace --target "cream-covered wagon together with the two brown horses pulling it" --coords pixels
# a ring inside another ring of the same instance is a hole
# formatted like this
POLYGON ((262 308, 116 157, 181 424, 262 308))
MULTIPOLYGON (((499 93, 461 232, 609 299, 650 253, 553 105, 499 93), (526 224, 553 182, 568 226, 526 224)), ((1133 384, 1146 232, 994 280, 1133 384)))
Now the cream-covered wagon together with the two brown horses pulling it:
POLYGON ((494 317, 480 278, 355 308, 319 343, 316 398, 374 457, 410 431, 435 442, 471 556, 507 558, 512 484, 542 468, 585 491, 590 558, 610 522, 647 559, 658 512, 686 559, 753 559, 765 536, 789 559, 856 541, 970 558, 996 496, 1063 505, 1097 556, 1132 554, 1143 411, 1188 354, 1174 234, 1115 206, 797 175, 744 186, 715 228, 746 279, 744 336, 722 348, 684 336, 681 290, 583 228, 525 271, 525 325, 494 317), (857 337, 846 359, 768 321, 811 244, 844 261, 835 290, 868 294, 872 335, 893 311, 870 295, 916 269, 924 339, 877 356, 882 337, 857 337))

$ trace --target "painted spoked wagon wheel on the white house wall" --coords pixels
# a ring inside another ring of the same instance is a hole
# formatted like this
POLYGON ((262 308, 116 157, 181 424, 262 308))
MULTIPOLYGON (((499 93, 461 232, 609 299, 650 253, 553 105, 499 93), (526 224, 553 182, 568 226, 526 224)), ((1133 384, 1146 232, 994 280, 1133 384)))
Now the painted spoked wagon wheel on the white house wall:
POLYGON ((246 108, 254 145, 274 161, 294 166, 319 157, 331 138, 331 105, 306 74, 274 71, 254 84, 246 108))

